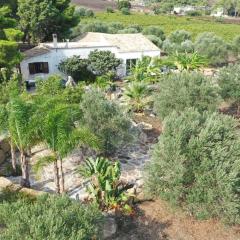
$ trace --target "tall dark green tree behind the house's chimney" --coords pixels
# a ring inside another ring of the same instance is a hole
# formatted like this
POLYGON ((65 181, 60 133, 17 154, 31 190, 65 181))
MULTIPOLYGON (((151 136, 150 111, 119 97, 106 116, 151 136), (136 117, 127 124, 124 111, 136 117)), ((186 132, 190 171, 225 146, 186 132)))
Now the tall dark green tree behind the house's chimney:
POLYGON ((66 38, 70 28, 79 22, 70 0, 18 0, 19 26, 24 40, 41 42, 50 40, 53 33, 66 38))

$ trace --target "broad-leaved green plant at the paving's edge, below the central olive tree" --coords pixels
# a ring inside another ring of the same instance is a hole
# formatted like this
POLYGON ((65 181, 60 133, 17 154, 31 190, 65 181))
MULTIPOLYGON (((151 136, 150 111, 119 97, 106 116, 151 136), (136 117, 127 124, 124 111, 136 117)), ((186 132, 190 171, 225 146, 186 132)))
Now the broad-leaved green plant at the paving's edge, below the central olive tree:
POLYGON ((78 172, 91 178, 87 191, 94 197, 100 209, 130 209, 127 204, 130 196, 126 191, 133 185, 120 181, 121 168, 118 161, 112 163, 106 158, 88 158, 78 168, 78 172))

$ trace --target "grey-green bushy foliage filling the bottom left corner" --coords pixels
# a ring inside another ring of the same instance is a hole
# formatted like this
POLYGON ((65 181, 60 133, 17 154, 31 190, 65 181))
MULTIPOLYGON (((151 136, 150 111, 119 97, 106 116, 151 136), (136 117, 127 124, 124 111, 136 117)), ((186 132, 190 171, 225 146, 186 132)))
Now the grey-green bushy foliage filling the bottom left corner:
POLYGON ((0 238, 5 240, 90 240, 101 236, 102 229, 96 206, 48 195, 34 202, 19 199, 0 204, 0 222, 5 226, 0 238))

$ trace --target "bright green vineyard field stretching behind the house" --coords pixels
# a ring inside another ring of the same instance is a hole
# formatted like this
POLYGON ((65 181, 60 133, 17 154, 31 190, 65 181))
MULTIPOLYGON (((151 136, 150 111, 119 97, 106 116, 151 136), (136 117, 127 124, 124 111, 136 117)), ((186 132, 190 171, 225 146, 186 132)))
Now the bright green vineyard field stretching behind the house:
MULTIPOLYGON (((141 26, 157 25, 162 26, 168 35, 172 31, 185 29, 192 33, 193 38, 201 32, 214 32, 227 41, 231 41, 234 36, 240 35, 240 24, 217 22, 212 18, 194 18, 179 16, 153 16, 141 13, 122 15, 121 13, 96 13, 96 19, 104 22, 122 22, 126 25, 139 24, 141 26)), ((88 21, 93 21, 88 20, 88 21)))

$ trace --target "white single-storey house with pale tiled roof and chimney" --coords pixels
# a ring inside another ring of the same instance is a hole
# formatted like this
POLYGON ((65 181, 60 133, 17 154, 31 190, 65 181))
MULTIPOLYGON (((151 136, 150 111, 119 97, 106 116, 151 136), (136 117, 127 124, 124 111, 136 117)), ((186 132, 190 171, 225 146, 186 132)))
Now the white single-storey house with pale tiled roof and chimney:
POLYGON ((110 50, 123 64, 118 68, 118 76, 125 76, 131 65, 143 56, 160 56, 160 49, 140 33, 105 34, 89 32, 74 39, 73 42, 58 42, 53 34, 52 43, 41 43, 24 52, 25 58, 20 64, 25 81, 34 81, 36 77, 45 78, 49 74, 61 74, 59 63, 74 55, 87 58, 95 49, 110 50))

